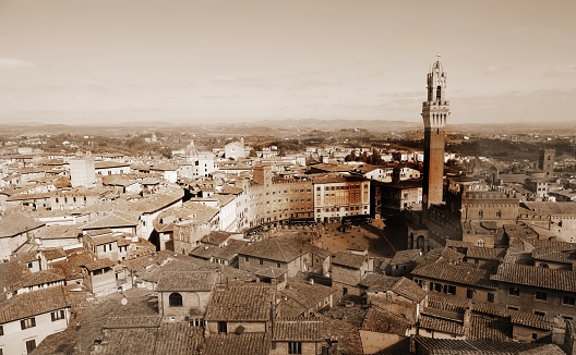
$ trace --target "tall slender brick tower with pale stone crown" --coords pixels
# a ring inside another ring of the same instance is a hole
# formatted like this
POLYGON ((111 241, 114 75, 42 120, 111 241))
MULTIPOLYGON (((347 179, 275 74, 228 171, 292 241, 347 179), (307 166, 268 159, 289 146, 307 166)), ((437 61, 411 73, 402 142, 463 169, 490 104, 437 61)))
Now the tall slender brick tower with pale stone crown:
MULTIPOLYGON (((440 56, 439 56, 440 57, 440 56)), ((440 60, 432 64, 427 77, 428 99, 422 102, 424 120, 424 174, 422 205, 442 204, 444 179, 444 145, 449 102, 446 100, 446 74, 440 60)))

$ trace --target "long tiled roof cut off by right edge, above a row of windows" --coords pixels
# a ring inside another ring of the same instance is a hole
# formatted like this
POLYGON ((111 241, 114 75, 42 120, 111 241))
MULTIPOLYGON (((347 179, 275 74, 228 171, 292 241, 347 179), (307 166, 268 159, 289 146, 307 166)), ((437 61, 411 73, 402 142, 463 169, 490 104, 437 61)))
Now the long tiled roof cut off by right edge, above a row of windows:
POLYGON ((576 292, 576 272, 571 270, 537 268, 517 264, 501 264, 497 268, 496 274, 492 276, 491 279, 512 284, 524 284, 535 287, 576 292))

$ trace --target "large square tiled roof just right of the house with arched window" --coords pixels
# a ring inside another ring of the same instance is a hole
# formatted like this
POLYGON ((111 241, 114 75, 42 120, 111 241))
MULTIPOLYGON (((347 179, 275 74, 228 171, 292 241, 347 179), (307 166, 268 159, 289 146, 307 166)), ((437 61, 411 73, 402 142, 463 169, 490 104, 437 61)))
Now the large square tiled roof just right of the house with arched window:
POLYGON ((268 321, 274 289, 264 283, 228 283, 214 290, 206 320, 268 321))

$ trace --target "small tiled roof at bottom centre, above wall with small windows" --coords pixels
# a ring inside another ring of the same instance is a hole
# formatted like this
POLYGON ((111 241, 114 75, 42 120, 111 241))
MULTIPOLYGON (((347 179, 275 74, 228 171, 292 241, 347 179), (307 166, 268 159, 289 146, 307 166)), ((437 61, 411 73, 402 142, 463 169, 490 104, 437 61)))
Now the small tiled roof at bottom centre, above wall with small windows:
POLYGON ((314 342, 324 338, 324 322, 319 319, 275 320, 272 325, 272 341, 314 342))

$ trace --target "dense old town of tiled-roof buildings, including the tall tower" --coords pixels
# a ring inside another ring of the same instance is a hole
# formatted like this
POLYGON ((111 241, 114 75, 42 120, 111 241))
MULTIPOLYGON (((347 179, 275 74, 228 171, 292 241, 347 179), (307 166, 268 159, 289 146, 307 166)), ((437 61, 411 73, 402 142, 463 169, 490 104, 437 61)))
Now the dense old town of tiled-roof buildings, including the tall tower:
POLYGON ((576 354, 574 138, 451 134, 425 79, 403 144, 2 139, 0 355, 576 354))

